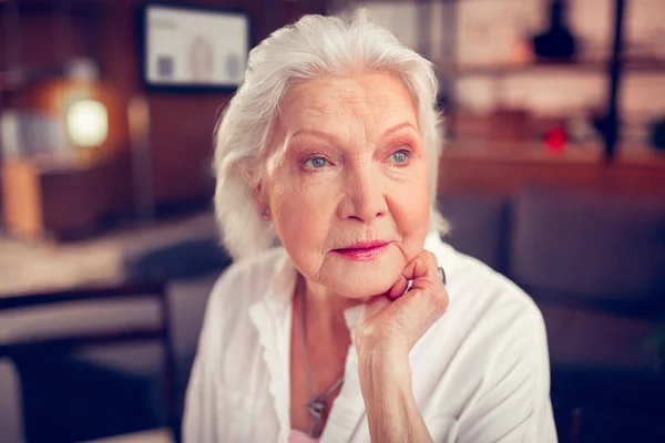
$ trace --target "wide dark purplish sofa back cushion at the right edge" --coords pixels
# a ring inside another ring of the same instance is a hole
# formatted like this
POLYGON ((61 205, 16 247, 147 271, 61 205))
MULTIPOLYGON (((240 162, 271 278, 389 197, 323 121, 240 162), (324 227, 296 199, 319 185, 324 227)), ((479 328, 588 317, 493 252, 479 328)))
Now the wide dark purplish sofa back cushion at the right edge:
POLYGON ((576 298, 662 301, 665 203, 526 188, 516 197, 511 276, 576 298))

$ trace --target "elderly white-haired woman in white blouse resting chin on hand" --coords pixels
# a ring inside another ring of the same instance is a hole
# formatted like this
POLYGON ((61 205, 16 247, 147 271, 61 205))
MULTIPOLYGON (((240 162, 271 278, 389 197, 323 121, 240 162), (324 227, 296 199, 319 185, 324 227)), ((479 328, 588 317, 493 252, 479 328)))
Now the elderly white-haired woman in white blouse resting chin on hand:
POLYGON ((208 302, 186 442, 556 440, 539 310, 440 239, 436 94, 432 65, 365 13, 305 17, 252 51, 217 130, 236 261, 208 302))

